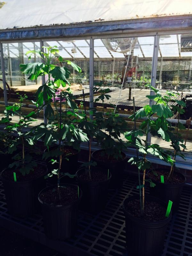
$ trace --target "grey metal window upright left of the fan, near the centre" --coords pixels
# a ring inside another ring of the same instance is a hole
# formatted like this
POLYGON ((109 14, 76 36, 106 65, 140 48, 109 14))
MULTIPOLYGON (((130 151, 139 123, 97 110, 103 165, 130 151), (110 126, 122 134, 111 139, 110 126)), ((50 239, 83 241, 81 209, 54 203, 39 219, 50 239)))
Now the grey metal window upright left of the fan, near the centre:
MULTIPOLYGON (((90 61, 89 61, 89 107, 93 108, 93 67, 94 67, 94 39, 90 38, 90 61)), ((93 116, 90 115, 93 119, 93 116)))

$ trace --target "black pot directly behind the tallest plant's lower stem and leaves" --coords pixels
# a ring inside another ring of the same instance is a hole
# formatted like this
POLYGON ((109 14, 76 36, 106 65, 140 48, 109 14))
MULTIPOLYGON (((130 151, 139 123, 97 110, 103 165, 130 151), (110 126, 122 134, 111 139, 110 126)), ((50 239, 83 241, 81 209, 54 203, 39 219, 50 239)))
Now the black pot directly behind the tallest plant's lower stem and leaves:
MULTIPOLYGON (((62 146, 62 147, 63 148, 71 148, 69 146, 62 146)), ((56 147, 53 146, 53 147, 50 147, 49 150, 51 151, 55 148, 56 147)), ((73 149, 73 150, 76 150, 76 149, 73 149)), ((44 152, 47 152, 47 149, 45 149, 44 152)), ((61 172, 69 172, 70 174, 76 174, 76 171, 77 171, 77 168, 78 168, 78 155, 79 155, 79 152, 78 152, 78 150, 76 150, 76 154, 66 156, 68 158, 68 160, 66 160, 65 157, 62 156, 61 172)), ((52 164, 50 162, 51 159, 57 160, 57 162, 59 162, 59 157, 49 157, 49 158, 47 158, 46 159, 46 164, 47 164, 48 172, 51 172, 51 170, 53 170, 53 169, 58 169, 58 163, 52 164)), ((65 182, 66 182, 66 178, 67 177, 65 177, 65 182)), ((49 181, 52 184, 56 184, 57 183, 57 175, 53 175, 52 178, 49 178, 49 181)), ((62 179, 62 182, 64 182, 64 179, 62 179)))

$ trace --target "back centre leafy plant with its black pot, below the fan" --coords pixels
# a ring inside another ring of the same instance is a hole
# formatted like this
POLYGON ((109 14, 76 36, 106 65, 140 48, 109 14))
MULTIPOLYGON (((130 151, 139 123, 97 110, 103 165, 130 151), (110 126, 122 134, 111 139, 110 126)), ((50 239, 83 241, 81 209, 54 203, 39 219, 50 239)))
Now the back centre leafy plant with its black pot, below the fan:
POLYGON ((95 138, 101 149, 92 153, 92 159, 98 167, 109 170, 111 173, 110 188, 119 188, 122 185, 122 172, 126 164, 126 155, 123 152, 126 143, 120 136, 127 130, 127 124, 113 106, 111 111, 105 112, 105 100, 111 97, 106 94, 109 92, 109 88, 106 88, 107 84, 103 82, 97 85, 98 87, 94 87, 94 91, 99 92, 100 95, 95 102, 101 100, 102 111, 96 112, 95 109, 93 116, 98 127, 95 138))

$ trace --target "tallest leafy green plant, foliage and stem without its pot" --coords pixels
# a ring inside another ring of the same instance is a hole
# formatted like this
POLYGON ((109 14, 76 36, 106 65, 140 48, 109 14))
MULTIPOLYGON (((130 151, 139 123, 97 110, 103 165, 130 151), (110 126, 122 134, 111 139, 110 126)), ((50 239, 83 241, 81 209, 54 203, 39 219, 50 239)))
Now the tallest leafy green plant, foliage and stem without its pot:
POLYGON ((48 117, 48 123, 35 126, 32 131, 34 140, 42 139, 48 149, 43 157, 45 159, 48 157, 57 158, 51 161, 53 164, 58 163, 58 168, 52 170, 48 176, 52 176, 52 174, 57 175, 58 195, 60 198, 60 178, 62 175, 71 177, 68 172, 61 173, 62 145, 72 144, 73 147, 78 147, 81 141, 87 141, 88 138, 77 126, 77 119, 83 117, 78 114, 78 107, 73 101, 74 97, 70 90, 70 83, 68 82, 70 71, 66 67, 52 64, 52 60, 53 58, 57 58, 57 64, 67 62, 67 64, 71 65, 77 72, 81 72, 81 68, 70 60, 63 60, 63 58, 59 56, 59 50, 56 46, 44 48, 46 52, 28 51, 26 53, 27 55, 29 54, 29 59, 31 54, 38 55, 42 59, 42 62, 21 64, 20 66, 23 73, 30 75, 28 77, 29 80, 37 79, 38 76, 42 75, 45 75, 47 78, 45 84, 37 89, 35 95, 36 105, 41 109, 45 107, 44 114, 48 117), (62 108, 63 105, 64 110, 62 108), (68 106, 71 108, 70 111, 68 110, 68 106), (56 142, 59 142, 56 149, 49 150, 49 147, 56 142), (57 162, 58 157, 59 162, 57 162))

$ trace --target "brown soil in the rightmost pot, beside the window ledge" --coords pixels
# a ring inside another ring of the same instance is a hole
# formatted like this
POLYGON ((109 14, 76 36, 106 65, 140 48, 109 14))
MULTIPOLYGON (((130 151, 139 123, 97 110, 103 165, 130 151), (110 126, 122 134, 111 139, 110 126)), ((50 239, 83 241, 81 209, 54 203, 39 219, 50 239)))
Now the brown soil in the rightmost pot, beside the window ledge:
POLYGON ((161 182, 161 175, 164 176, 164 184, 174 185, 174 184, 181 184, 185 181, 185 179, 183 177, 181 177, 181 175, 179 175, 175 172, 173 172, 173 175, 170 177, 169 180, 167 180, 169 171, 167 172, 167 171, 163 171, 163 170, 157 170, 155 172, 156 172, 157 176, 153 172, 148 173, 149 178, 154 181, 161 182))

